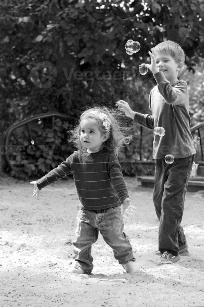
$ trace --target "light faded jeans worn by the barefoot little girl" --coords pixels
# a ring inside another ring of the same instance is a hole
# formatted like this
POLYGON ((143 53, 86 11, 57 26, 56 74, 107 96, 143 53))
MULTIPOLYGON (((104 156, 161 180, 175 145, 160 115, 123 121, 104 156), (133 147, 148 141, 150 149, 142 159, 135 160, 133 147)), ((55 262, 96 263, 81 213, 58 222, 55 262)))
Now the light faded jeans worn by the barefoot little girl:
POLYGON ((98 239, 99 231, 105 242, 113 249, 119 264, 135 261, 132 245, 124 231, 120 206, 102 210, 80 208, 77 215, 76 240, 73 242, 76 265, 90 274, 93 269, 91 245, 98 239))

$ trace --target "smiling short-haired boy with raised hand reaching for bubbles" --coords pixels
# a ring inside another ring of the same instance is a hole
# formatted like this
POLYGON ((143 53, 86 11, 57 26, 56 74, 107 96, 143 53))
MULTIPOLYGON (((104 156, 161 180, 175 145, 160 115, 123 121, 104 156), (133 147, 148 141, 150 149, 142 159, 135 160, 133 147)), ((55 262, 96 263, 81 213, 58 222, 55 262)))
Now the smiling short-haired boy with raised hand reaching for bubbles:
POLYGON ((162 136, 154 133, 153 203, 160 221, 160 260, 163 263, 175 263, 181 258, 179 252, 188 248, 181 220, 196 150, 189 129, 191 119, 187 83, 177 78, 185 60, 184 51, 180 45, 169 40, 158 44, 151 51, 151 64, 147 65, 157 82, 149 95, 152 115, 134 112, 124 100, 117 101, 116 106, 143 127, 163 127, 165 130, 162 136), (165 162, 168 154, 174 160, 170 164, 165 162))

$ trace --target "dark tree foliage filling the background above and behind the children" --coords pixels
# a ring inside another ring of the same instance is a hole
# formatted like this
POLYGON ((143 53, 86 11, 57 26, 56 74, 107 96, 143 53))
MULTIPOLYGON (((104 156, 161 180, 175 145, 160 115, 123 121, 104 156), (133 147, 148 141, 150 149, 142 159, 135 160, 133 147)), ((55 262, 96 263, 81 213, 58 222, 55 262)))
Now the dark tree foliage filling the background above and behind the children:
MULTIPOLYGON (((115 107, 124 99, 135 111, 150 114, 148 95, 155 81, 150 72, 140 75, 138 66, 150 61, 148 51, 165 39, 184 49, 181 78, 189 85, 192 124, 204 121, 202 0, 7 0, 0 6, 1 144, 3 131, 32 115, 57 111, 69 117, 58 125, 56 119, 54 130, 44 120, 32 123, 37 146, 55 145, 49 158, 37 149, 30 156, 15 150, 30 145, 26 129, 12 135, 11 159, 24 161, 13 176, 45 174, 72 153, 66 130, 86 106, 115 107), (132 56, 125 52, 128 39, 141 45, 132 56)), ((126 174, 141 173, 125 164, 141 158, 139 140, 140 127, 134 126, 133 141, 120 157, 126 174)), ((142 159, 152 159, 152 141, 153 133, 144 129, 142 159)), ((7 170, 3 150, 1 165, 7 170)))

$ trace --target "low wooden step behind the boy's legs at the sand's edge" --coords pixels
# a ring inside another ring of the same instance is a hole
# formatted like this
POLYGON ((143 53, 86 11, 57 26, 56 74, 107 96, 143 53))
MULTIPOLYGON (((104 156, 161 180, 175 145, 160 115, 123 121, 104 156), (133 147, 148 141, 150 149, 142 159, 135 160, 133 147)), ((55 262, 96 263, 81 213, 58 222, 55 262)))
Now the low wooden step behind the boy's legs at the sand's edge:
MULTIPOLYGON (((141 176, 137 178, 138 181, 141 182, 142 186, 147 188, 154 187, 154 177, 153 176, 141 176)), ((204 177, 197 176, 197 177, 190 177, 188 181, 187 191, 188 192, 197 192, 199 190, 204 190, 204 177)))

